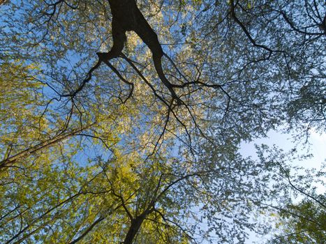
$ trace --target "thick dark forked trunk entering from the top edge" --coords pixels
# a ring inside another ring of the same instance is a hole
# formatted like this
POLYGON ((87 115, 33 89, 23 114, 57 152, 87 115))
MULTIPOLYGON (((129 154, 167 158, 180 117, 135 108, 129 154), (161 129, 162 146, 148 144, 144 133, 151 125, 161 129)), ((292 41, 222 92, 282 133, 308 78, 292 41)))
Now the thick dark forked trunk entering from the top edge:
POLYGON ((100 60, 108 61, 118 57, 126 42, 126 31, 135 31, 149 47, 153 57, 154 67, 161 82, 169 89, 172 99, 181 105, 182 101, 175 93, 172 84, 165 77, 162 68, 163 49, 158 42, 156 33, 140 12, 135 0, 108 0, 112 13, 113 46, 108 53, 98 53, 100 60))

